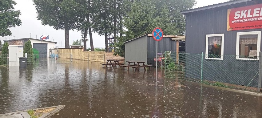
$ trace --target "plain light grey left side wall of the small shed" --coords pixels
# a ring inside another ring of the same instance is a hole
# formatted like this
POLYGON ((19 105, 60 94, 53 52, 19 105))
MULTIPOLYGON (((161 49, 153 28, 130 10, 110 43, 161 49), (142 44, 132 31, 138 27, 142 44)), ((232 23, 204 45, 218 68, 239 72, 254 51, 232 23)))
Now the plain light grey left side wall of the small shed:
POLYGON ((125 43, 125 61, 147 61, 147 36, 125 43))

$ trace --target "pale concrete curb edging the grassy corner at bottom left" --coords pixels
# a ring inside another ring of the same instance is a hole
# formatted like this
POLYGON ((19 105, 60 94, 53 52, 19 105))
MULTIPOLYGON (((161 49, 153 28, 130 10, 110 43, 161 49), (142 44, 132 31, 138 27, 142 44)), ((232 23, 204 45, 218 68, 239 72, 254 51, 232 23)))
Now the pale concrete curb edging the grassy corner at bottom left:
MULTIPOLYGON (((35 108, 35 110, 40 110, 40 109, 46 109, 46 108, 55 108, 54 110, 45 113, 44 115, 40 116, 39 118, 48 118, 51 115, 55 114, 56 112, 60 111, 62 108, 66 107, 66 105, 59 105, 59 106, 53 106, 53 107, 45 107, 45 108, 35 108)), ((22 112, 26 112, 27 110, 24 111, 18 111, 18 112, 10 112, 10 113, 5 113, 5 114, 0 114, 0 116, 7 116, 7 115, 12 115, 12 114, 21 114, 22 112)))

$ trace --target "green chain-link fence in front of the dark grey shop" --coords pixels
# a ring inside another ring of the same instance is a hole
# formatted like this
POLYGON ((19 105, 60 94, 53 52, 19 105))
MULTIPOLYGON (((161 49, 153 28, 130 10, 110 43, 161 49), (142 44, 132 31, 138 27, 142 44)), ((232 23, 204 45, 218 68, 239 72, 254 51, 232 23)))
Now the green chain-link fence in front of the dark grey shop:
POLYGON ((236 55, 165 53, 165 77, 219 87, 258 91, 259 61, 236 55), (211 59, 210 59, 211 58, 211 59))

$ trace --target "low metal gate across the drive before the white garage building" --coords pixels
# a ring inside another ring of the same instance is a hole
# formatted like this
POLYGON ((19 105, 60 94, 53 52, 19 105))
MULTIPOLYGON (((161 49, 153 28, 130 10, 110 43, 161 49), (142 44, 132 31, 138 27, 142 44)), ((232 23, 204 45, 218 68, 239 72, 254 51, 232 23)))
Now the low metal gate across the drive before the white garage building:
POLYGON ((72 54, 34 54, 27 55, 27 64, 72 63, 72 54))

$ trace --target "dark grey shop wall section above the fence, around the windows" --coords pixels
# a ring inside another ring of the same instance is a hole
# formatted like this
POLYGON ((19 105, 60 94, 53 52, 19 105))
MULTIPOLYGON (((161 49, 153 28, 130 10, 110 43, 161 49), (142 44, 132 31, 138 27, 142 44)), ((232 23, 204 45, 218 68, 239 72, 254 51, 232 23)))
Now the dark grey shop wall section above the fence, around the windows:
POLYGON ((201 54, 202 51, 205 52, 206 35, 224 34, 224 55, 236 55, 236 32, 262 31, 262 29, 227 31, 227 10, 230 8, 204 10, 186 15, 186 53, 201 54))

